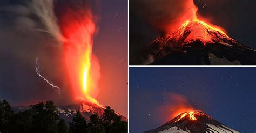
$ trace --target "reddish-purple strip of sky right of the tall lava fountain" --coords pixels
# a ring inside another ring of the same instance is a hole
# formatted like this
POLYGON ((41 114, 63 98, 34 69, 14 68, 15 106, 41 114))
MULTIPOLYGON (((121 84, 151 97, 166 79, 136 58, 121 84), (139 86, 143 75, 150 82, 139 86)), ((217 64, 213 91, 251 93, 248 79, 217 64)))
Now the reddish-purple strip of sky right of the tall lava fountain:
POLYGON ((97 100, 127 117, 127 0, 99 2, 101 19, 93 49, 102 74, 97 100))

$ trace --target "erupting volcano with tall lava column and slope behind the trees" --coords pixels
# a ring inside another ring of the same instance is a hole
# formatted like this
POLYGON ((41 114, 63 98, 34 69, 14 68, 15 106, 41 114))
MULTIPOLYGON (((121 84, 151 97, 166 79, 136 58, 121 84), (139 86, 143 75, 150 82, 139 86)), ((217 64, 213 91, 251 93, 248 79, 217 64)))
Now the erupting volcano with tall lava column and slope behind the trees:
MULTIPOLYGON (((76 104, 58 108, 63 119, 72 121, 77 110, 80 110, 86 120, 92 114, 101 116, 105 107, 95 99, 98 94, 100 65, 93 54, 93 35, 96 32, 91 11, 68 9, 61 17, 61 29, 64 42, 64 64, 70 80, 72 98, 76 104)), ((127 119, 122 117, 122 120, 127 119)))

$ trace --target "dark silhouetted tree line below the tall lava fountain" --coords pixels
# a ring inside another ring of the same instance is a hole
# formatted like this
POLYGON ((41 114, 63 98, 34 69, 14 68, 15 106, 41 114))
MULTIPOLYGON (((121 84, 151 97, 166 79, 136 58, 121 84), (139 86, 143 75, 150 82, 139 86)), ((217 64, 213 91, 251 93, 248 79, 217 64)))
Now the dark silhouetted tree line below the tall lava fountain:
POLYGON ((90 122, 77 111, 69 127, 60 119, 52 101, 31 105, 28 110, 14 113, 6 100, 0 99, 0 132, 1 133, 110 133, 128 132, 127 122, 121 120, 113 109, 107 106, 104 114, 90 116, 90 122))

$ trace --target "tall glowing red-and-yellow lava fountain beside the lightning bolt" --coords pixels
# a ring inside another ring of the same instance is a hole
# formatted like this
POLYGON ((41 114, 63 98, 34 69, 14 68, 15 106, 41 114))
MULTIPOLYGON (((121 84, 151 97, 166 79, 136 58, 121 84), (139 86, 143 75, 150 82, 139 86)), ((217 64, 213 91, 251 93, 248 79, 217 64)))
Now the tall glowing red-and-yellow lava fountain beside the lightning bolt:
POLYGON ((98 91, 100 67, 97 57, 92 53, 93 35, 96 32, 92 13, 90 10, 69 9, 61 20, 61 29, 67 40, 64 44, 64 62, 70 78, 73 98, 100 105, 93 98, 98 91))

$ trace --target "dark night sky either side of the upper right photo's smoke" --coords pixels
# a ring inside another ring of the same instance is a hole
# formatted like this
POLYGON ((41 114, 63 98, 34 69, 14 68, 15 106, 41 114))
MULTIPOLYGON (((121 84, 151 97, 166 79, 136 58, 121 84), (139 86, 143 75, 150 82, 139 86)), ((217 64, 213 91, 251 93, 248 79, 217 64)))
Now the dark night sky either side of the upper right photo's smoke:
MULTIPOLYGON (((137 0, 130 0, 130 65, 142 64, 147 58, 147 53, 144 53, 146 46, 161 34, 156 30, 155 26, 152 26, 149 21, 138 13, 139 11, 150 12, 154 9, 134 10, 136 7, 134 4, 136 3, 138 3, 137 0)), ((256 49, 256 15, 254 13, 256 1, 194 0, 194 3, 198 7, 197 13, 199 16, 203 16, 212 24, 225 29, 231 38, 252 49, 256 49)), ((164 10, 166 6, 163 4, 166 4, 166 1, 159 1, 154 7, 159 10, 163 6, 164 10)), ((167 8, 170 11, 172 9, 171 6, 167 8)), ((164 14, 158 14, 150 20, 161 16, 164 16, 164 14)))

